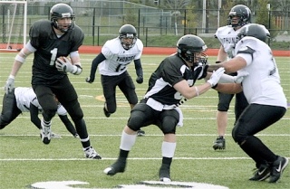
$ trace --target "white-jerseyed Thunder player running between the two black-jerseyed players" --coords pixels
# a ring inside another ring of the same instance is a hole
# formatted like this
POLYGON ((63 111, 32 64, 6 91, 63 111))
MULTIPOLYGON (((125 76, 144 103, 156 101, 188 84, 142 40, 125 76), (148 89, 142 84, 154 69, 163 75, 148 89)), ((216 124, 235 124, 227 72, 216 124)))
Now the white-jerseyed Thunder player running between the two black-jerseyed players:
MULTIPOLYGON (((99 66, 102 80, 103 95, 105 103, 103 112, 107 118, 117 109, 116 87, 125 95, 131 109, 137 104, 138 97, 135 85, 127 71, 127 66, 134 61, 137 79, 143 82, 143 70, 140 57, 143 51, 143 43, 137 38, 136 28, 131 24, 124 24, 119 30, 119 36, 107 41, 102 46, 102 52, 92 61, 90 77, 87 82, 92 83, 99 66)), ((144 136, 143 130, 138 131, 138 136, 144 136)))

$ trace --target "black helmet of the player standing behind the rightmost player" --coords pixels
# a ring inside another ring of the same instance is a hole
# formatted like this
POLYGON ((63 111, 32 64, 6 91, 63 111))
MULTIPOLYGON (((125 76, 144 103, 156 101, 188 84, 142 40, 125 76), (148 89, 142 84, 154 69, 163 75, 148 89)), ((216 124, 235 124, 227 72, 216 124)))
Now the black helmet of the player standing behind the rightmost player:
POLYGON ((232 27, 242 27, 246 24, 251 23, 251 10, 247 7, 247 5, 235 5, 232 7, 228 14, 228 24, 232 25, 232 27), (232 22, 233 16, 238 16, 239 21, 237 23, 232 22))

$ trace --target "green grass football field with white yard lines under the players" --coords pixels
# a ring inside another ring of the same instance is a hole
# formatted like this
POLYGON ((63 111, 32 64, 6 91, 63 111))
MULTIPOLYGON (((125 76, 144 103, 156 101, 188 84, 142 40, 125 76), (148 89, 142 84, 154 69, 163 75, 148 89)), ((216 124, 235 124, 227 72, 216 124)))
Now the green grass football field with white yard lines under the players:
MULTIPOLYGON (((0 53, 0 99, 4 96, 7 79, 14 53, 0 53)), ((231 129, 234 123, 234 100, 229 110, 227 127, 227 148, 214 151, 213 141, 217 137, 216 112, 218 96, 216 90, 209 90, 196 99, 190 99, 181 109, 184 126, 177 128, 178 145, 171 165, 172 184, 161 185, 158 171, 161 162, 162 133, 155 126, 144 128, 145 137, 138 137, 133 147, 126 172, 115 176, 103 174, 119 153, 122 128, 130 115, 130 107, 121 91, 117 92, 118 109, 105 118, 102 112, 103 97, 100 75, 94 83, 84 80, 89 76, 94 55, 82 54, 83 71, 80 76, 70 75, 84 112, 84 118, 91 137, 92 146, 102 155, 102 160, 84 158, 79 139, 66 130, 58 117, 53 118, 53 132, 63 138, 52 139, 44 145, 39 130, 24 113, 5 129, 0 130, 0 188, 223 188, 231 189, 285 189, 290 188, 290 167, 277 184, 250 182, 254 162, 234 143, 231 129), (65 182, 68 181, 68 182, 65 182), (80 183, 73 183, 79 181, 80 183), (140 182, 148 181, 148 184, 140 182), (179 182, 179 183, 177 183, 179 182), (34 184, 34 187, 31 185, 34 184), (65 186, 65 184, 72 184, 65 186), (75 184, 75 185, 73 185, 75 184), (207 185, 210 184, 210 185, 207 185), (219 187, 218 187, 219 185, 219 187)), ((136 84, 139 98, 147 90, 148 79, 165 55, 143 55, 144 83, 136 84)), ((15 87, 30 87, 32 58, 28 57, 15 79, 15 87)), ((209 63, 216 57, 210 57, 209 63)), ((276 62, 281 83, 290 102, 290 61, 289 57, 277 57, 276 62)), ((133 80, 136 79, 133 63, 129 66, 133 80)), ((198 80, 198 83, 202 80, 198 80)), ((197 84, 198 84, 197 83, 197 84)), ((0 104, 2 109, 2 103, 0 104)), ((41 117, 41 116, 40 116, 41 117)), ((290 157, 290 111, 274 126, 257 136, 273 151, 290 157)))

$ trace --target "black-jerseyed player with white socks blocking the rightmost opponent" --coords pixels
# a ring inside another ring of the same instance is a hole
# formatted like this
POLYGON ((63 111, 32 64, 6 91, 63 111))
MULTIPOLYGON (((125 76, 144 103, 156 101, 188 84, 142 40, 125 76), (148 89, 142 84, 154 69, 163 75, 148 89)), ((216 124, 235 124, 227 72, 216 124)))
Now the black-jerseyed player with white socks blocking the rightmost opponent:
POLYGON ((176 127, 183 124, 179 105, 186 99, 198 97, 210 90, 224 73, 224 69, 220 68, 207 82, 195 86, 196 80, 209 75, 206 69, 208 56, 204 53, 207 46, 198 36, 188 34, 179 39, 177 47, 178 52, 161 61, 157 70, 151 74, 144 99, 131 110, 131 117, 121 134, 119 157, 114 164, 104 169, 106 175, 125 171, 137 131, 152 124, 159 127, 164 135, 160 181, 171 181, 170 165, 176 148, 176 127))

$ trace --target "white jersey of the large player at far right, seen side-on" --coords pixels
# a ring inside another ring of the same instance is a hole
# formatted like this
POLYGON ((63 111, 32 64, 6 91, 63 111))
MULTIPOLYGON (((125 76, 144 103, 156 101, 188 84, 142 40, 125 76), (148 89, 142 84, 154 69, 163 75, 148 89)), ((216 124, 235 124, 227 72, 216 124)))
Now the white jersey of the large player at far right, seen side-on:
POLYGON ((255 37, 247 36, 237 43, 235 52, 247 61, 247 66, 240 71, 249 73, 242 82, 248 103, 287 109, 285 93, 270 47, 255 37), (252 55, 247 53, 251 51, 252 55))

